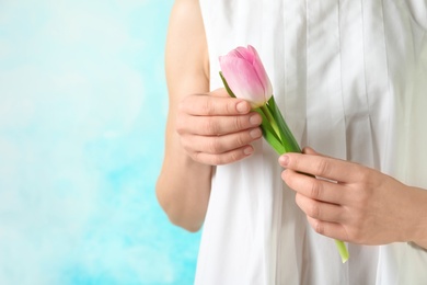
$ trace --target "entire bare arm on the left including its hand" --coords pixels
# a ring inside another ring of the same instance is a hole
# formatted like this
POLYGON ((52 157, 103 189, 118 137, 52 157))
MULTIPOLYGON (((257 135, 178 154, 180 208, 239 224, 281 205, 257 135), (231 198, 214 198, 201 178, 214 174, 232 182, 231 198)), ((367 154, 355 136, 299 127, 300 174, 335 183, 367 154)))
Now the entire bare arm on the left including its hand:
POLYGON ((169 114, 157 196, 170 220, 197 231, 205 219, 215 166, 253 152, 261 116, 224 89, 209 92, 208 49, 197 0, 177 0, 166 41, 169 114))

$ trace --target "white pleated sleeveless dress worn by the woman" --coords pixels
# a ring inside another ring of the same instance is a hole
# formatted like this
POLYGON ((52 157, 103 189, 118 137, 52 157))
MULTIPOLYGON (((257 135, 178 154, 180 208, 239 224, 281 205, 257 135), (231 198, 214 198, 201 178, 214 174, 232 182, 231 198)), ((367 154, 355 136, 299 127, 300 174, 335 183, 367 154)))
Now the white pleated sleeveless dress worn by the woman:
MULTIPOLYGON (((253 45, 301 146, 427 189, 426 0, 200 0, 210 88, 218 57, 253 45)), ((263 139, 217 167, 196 284, 427 284, 427 251, 313 231, 263 139)), ((427 205, 426 205, 427 207, 427 205)), ((396 209, 399 210, 399 209, 396 209)))

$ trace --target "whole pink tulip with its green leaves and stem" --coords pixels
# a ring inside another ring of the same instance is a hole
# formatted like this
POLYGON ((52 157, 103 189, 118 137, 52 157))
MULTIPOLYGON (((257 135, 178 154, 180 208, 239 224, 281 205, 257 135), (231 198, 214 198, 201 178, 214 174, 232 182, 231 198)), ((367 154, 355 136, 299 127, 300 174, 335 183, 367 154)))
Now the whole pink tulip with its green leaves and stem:
MULTIPOLYGON (((279 153, 301 152, 273 96, 272 83, 253 46, 238 47, 227 56, 219 57, 221 79, 230 96, 251 102, 263 116, 261 128, 268 144, 279 153)), ((343 263, 348 260, 348 250, 341 240, 335 240, 343 263)))

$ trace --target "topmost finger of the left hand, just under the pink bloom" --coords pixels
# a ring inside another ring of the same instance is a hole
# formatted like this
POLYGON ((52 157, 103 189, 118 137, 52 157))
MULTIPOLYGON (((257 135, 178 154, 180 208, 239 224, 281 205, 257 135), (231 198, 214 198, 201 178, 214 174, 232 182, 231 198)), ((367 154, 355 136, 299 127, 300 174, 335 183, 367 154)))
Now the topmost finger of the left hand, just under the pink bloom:
POLYGON ((230 96, 189 95, 180 103, 178 110, 195 116, 232 116, 247 114, 251 104, 230 96))

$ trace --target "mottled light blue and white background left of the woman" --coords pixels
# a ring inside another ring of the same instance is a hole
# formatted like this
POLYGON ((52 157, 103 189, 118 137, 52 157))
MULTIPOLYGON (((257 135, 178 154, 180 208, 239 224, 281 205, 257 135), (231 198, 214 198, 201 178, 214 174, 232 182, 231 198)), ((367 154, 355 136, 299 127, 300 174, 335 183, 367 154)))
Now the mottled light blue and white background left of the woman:
POLYGON ((154 184, 172 0, 0 0, 0 284, 192 284, 154 184))

